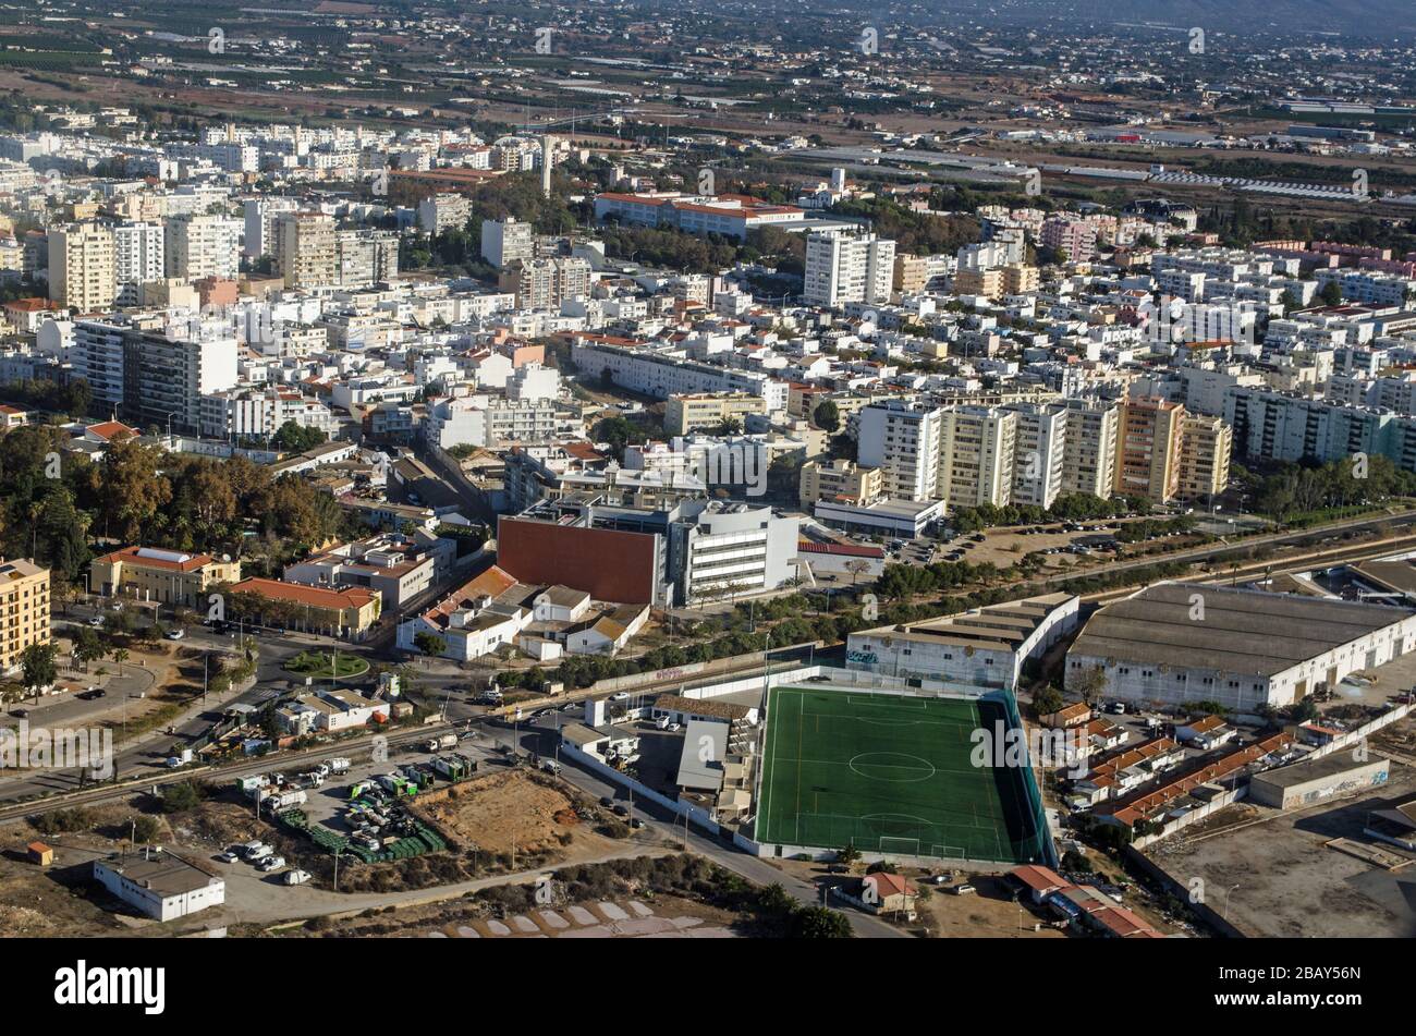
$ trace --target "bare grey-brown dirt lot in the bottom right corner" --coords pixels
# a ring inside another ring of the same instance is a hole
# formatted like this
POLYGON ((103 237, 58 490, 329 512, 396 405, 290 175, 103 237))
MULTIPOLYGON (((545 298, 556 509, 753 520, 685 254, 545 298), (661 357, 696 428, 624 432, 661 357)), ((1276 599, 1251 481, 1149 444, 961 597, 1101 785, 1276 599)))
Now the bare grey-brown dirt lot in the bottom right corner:
POLYGON ((1252 936, 1409 938, 1416 934, 1416 863, 1388 870, 1327 844, 1371 842, 1362 835, 1368 812, 1413 793, 1416 770, 1393 761, 1376 794, 1286 814, 1240 802, 1150 846, 1147 856, 1182 885, 1201 879, 1206 903, 1252 936))

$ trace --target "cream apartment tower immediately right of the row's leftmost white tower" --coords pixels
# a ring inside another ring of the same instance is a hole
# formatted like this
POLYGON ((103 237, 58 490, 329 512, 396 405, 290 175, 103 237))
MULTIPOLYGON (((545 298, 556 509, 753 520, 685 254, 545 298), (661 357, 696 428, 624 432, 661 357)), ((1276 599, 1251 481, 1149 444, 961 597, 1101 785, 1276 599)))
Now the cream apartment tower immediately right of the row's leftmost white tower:
POLYGON ((939 495, 952 507, 1005 507, 1012 500, 1018 415, 988 406, 944 410, 939 495))

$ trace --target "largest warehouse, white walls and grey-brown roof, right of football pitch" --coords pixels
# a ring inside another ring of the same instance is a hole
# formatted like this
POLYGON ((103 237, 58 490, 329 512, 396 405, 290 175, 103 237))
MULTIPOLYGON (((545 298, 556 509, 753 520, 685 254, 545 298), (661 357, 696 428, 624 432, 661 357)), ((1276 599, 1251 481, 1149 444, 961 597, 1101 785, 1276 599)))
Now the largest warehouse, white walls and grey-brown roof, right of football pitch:
POLYGON ((1066 686, 1080 691, 1099 671, 1100 693, 1123 701, 1283 708, 1413 647, 1406 609, 1165 582, 1087 620, 1066 686))

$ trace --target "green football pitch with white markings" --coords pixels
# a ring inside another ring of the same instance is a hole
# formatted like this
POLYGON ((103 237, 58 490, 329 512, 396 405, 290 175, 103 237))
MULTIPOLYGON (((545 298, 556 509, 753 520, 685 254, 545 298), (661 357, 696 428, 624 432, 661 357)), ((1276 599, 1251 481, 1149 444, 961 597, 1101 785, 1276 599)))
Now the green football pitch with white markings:
POLYGON ((773 688, 756 841, 901 856, 1039 858, 1024 771, 970 761, 991 699, 773 688))

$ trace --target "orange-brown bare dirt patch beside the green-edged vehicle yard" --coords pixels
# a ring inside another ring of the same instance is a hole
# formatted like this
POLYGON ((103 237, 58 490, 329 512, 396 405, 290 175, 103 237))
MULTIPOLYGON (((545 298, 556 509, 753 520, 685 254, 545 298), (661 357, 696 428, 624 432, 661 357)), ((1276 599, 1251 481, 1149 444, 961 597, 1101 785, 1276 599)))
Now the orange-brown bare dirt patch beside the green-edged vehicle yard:
POLYGON ((592 831, 590 821, 576 815, 576 807, 595 808, 569 785, 511 770, 421 797, 416 811, 469 849, 497 855, 514 849, 561 862, 569 858, 569 845, 578 856, 612 845, 592 831))

